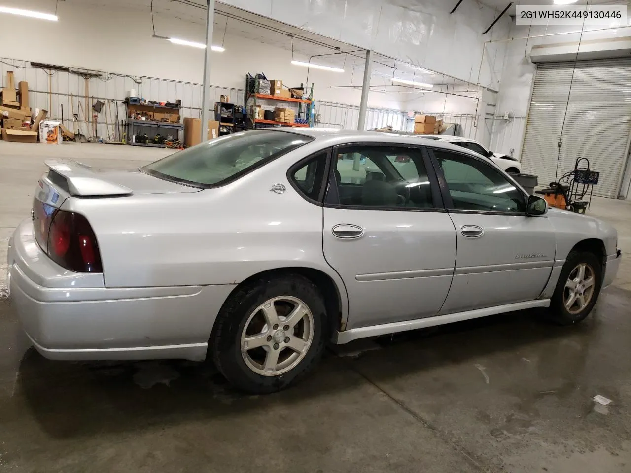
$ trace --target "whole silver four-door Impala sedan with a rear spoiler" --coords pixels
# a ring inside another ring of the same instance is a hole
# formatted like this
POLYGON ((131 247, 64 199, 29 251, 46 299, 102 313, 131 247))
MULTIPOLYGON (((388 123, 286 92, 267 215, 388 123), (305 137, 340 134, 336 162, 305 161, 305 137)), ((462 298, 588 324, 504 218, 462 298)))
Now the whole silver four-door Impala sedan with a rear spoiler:
POLYGON ((47 161, 9 291, 50 359, 213 360, 287 387, 327 342, 544 308, 587 317, 616 230, 417 137, 237 132, 134 172, 47 161))

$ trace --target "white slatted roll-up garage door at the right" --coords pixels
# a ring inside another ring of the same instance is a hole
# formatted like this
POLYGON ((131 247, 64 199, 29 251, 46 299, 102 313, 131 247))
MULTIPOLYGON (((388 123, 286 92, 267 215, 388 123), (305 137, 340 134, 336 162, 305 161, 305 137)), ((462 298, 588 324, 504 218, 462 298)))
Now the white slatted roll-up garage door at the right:
POLYGON ((618 197, 630 131, 631 59, 538 64, 522 172, 548 185, 581 156, 600 172, 594 195, 618 197))

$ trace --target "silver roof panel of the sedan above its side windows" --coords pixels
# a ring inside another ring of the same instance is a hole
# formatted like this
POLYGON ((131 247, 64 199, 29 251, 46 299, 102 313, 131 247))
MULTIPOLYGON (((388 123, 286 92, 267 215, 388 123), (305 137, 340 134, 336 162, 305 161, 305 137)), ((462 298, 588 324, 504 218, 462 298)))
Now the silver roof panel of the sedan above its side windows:
MULTIPOLYGON (((451 151, 457 151, 460 154, 476 156, 479 158, 478 153, 469 151, 461 146, 449 144, 447 141, 438 141, 435 139, 428 139, 421 135, 408 135, 396 132, 384 132, 384 131, 359 131, 359 130, 346 130, 339 128, 292 128, 280 127, 274 129, 280 129, 282 131, 290 131, 306 136, 315 138, 322 144, 330 144, 330 146, 336 146, 345 143, 357 143, 357 142, 377 142, 377 143, 392 143, 392 144, 424 144, 425 146, 432 146, 433 148, 444 148, 451 151), (328 142, 328 143, 324 143, 328 142)), ((430 135, 432 136, 432 135, 430 135)), ((435 135, 434 135, 435 136, 435 135)))

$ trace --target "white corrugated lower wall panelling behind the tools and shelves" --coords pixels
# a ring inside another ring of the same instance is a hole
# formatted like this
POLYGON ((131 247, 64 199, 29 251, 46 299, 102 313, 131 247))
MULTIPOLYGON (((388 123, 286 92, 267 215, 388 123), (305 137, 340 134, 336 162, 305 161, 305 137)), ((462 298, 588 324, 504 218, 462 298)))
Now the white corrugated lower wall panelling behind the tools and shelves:
MULTIPOLYGON (((98 114, 97 135, 113 135, 116 110, 118 108, 119 120, 124 120, 123 100, 132 88, 138 91, 138 96, 147 100, 182 100, 182 118, 201 116, 201 84, 105 72, 100 73, 100 77, 86 79, 74 73, 32 67, 28 61, 0 58, 0 78, 3 83, 6 71, 14 72, 16 86, 19 81, 28 81, 29 105, 33 110, 44 108, 49 111, 50 119, 61 120, 63 108, 63 118, 67 125, 72 122, 73 113, 78 114, 78 126, 85 136, 92 134, 91 107, 96 100, 108 104, 105 107, 107 112, 103 110, 98 114)), ((230 96, 234 103, 244 101, 244 90, 218 86, 211 86, 210 89, 211 102, 217 102, 220 95, 230 96)), ((321 116, 321 122, 316 124, 316 127, 357 129, 359 107, 317 100, 314 106, 315 112, 321 116)), ((423 113, 437 115, 445 122, 459 123, 463 127, 465 137, 475 137, 475 115, 423 113)), ((366 129, 392 126, 394 130, 412 131, 413 120, 409 120, 407 115, 407 112, 401 110, 369 108, 366 114, 366 129)))

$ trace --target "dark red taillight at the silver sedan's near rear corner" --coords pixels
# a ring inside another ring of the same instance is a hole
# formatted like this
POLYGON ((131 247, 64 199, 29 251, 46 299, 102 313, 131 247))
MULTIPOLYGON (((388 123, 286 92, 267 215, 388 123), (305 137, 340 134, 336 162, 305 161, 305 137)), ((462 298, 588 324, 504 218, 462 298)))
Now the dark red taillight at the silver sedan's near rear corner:
POLYGON ((102 272, 97 238, 86 218, 57 210, 48 235, 50 259, 74 272, 102 272))

